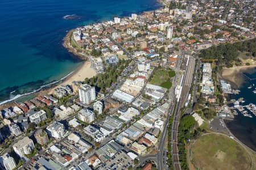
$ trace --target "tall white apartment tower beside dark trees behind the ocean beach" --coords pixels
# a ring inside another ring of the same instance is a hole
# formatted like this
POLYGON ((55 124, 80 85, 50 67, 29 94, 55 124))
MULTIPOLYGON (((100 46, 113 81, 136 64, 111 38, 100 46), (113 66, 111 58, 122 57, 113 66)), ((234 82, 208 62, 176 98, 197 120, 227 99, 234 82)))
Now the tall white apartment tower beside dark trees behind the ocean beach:
POLYGON ((96 99, 95 87, 91 87, 88 84, 82 84, 79 88, 79 100, 82 104, 90 104, 96 99))

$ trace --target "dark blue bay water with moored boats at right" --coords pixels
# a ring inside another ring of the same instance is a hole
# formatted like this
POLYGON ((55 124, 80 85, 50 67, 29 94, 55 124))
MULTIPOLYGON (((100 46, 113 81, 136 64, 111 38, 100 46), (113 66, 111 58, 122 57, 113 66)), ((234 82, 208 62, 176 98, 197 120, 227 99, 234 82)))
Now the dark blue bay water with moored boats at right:
MULTIPOLYGON (((239 99, 243 97, 245 103, 240 103, 240 105, 247 105, 250 103, 256 104, 256 94, 253 91, 256 88, 256 69, 248 69, 244 73, 247 77, 244 76, 243 84, 240 88, 238 88, 241 92, 238 95, 230 95, 230 99, 239 99), (253 88, 248 88, 251 85, 255 85, 253 88)), ((248 112, 250 113, 250 112, 248 112)), ((246 146, 250 147, 254 151, 256 151, 256 116, 250 113, 252 118, 245 117, 241 113, 238 113, 238 116, 235 116, 232 121, 225 121, 229 130, 246 146)))

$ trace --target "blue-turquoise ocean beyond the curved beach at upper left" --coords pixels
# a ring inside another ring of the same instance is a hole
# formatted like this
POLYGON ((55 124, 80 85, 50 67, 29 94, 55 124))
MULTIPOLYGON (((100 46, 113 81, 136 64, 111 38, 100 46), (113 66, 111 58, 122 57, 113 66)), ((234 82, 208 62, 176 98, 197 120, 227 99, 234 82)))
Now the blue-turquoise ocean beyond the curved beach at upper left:
POLYGON ((0 101, 59 80, 81 64, 62 45, 69 29, 159 7, 155 0, 1 0, 0 101), (63 18, 73 14, 77 18, 63 18))

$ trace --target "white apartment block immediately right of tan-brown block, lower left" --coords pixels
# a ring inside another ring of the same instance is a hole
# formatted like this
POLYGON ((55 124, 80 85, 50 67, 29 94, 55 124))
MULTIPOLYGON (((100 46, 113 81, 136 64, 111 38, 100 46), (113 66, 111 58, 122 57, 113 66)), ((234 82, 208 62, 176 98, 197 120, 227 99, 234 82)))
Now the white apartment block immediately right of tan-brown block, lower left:
POLYGON ((60 122, 53 122, 46 128, 46 131, 51 137, 60 139, 65 133, 65 128, 60 122))

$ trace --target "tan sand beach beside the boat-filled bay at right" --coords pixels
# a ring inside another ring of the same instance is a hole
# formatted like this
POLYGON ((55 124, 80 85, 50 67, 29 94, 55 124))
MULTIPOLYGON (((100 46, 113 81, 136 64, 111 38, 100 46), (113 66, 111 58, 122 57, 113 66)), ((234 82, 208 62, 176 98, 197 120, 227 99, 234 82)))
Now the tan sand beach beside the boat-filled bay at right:
POLYGON ((224 68, 222 69, 221 75, 222 78, 235 84, 237 87, 241 87, 243 82, 245 82, 245 77, 241 73, 254 67, 256 67, 256 63, 250 66, 234 66, 231 68, 224 68))

